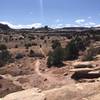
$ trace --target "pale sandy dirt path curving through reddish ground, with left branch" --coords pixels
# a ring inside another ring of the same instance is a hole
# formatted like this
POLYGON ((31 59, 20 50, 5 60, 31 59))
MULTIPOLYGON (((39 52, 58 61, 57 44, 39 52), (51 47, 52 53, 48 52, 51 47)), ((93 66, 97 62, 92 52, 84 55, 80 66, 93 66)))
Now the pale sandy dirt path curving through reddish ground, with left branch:
MULTIPOLYGON (((53 74, 50 73, 43 73, 41 72, 40 68, 41 66, 41 61, 39 59, 37 59, 35 62, 31 61, 31 62, 27 62, 27 65, 30 66, 30 68, 34 68, 34 72, 36 73, 36 75, 40 76, 43 78, 44 81, 46 81, 46 84, 49 85, 65 85, 65 84, 72 84, 71 81, 69 81, 68 78, 63 79, 62 77, 57 77, 54 76, 53 74), (68 80, 68 81, 67 81, 68 80)), ((22 84, 18 81, 19 78, 26 78, 26 77, 31 77, 33 74, 29 74, 29 75, 19 75, 19 76, 12 76, 10 74, 6 74, 6 75, 0 75, 2 76, 4 79, 10 80, 13 82, 13 84, 15 84, 16 86, 21 86, 23 89, 27 89, 30 88, 30 83, 25 83, 22 84)))

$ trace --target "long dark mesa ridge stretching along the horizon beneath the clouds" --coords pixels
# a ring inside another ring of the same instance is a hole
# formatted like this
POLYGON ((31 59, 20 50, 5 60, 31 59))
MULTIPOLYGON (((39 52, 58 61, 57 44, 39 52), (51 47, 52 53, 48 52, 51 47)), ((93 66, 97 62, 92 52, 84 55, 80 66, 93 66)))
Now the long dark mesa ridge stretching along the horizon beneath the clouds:
POLYGON ((89 32, 100 31, 100 27, 62 27, 62 28, 50 28, 49 26, 43 26, 40 28, 21 28, 12 29, 7 24, 0 23, 0 33, 5 31, 18 31, 18 32, 31 32, 31 33, 76 33, 76 32, 89 32))

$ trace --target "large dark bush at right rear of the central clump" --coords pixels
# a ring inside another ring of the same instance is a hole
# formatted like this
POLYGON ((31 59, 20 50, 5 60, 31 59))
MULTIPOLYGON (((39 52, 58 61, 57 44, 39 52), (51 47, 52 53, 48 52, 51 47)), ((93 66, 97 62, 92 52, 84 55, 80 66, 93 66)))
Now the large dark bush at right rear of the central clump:
POLYGON ((76 37, 75 39, 72 39, 68 45, 66 45, 64 50, 64 60, 74 60, 77 59, 79 56, 79 51, 84 51, 85 45, 83 44, 83 41, 76 37))

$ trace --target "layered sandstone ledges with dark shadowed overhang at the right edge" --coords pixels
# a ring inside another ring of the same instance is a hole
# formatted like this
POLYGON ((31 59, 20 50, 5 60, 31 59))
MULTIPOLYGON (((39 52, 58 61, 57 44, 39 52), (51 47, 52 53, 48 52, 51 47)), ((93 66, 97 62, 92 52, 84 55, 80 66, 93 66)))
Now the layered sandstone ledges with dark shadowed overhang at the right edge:
POLYGON ((100 66, 93 65, 91 62, 76 62, 73 64, 74 69, 71 72, 74 74, 72 79, 96 79, 100 77, 100 66))

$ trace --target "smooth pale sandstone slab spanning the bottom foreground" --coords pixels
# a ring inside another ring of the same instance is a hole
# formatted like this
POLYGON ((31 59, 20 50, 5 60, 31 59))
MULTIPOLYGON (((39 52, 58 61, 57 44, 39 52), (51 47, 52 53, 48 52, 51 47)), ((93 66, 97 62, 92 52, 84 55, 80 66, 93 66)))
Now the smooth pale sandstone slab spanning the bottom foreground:
POLYGON ((1 100, 99 100, 100 84, 78 83, 47 91, 32 88, 11 93, 1 100))

